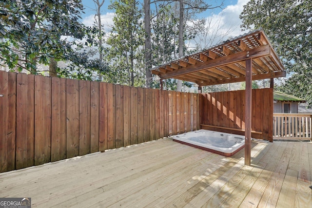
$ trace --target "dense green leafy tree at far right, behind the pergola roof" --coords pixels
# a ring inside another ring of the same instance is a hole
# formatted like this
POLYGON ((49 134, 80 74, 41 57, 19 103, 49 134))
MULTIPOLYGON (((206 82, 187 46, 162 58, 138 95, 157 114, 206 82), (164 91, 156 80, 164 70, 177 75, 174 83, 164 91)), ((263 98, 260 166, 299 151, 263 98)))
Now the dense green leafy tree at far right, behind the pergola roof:
POLYGON ((312 104, 312 1, 251 0, 240 15, 243 29, 262 27, 290 75, 279 90, 312 104))

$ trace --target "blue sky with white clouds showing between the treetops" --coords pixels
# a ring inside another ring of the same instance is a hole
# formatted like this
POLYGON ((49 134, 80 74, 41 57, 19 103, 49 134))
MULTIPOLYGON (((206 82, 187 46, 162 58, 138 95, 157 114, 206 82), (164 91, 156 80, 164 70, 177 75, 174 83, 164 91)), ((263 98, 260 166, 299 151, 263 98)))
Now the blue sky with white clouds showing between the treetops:
MULTIPOLYGON (((228 36, 233 38, 245 33, 242 32, 239 27, 239 25, 241 24, 239 15, 243 11, 243 5, 245 5, 248 1, 249 0, 224 0, 223 10, 207 10, 206 12, 203 12, 200 17, 207 18, 211 21, 218 21, 218 30, 220 32, 230 30, 231 34, 229 34, 228 36)), ((114 11, 108 9, 108 5, 110 4, 110 2, 110 0, 105 0, 102 6, 101 21, 104 25, 112 25, 113 23, 112 17, 114 16, 114 11)), ((209 0, 210 4, 215 4, 215 2, 218 3, 220 2, 220 0, 209 0)), ((82 4, 85 7, 85 14, 82 15, 82 22, 87 26, 91 26, 94 22, 95 17, 95 4, 93 0, 82 0, 82 4)))

